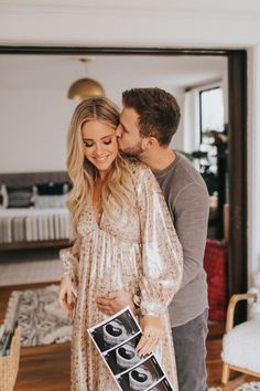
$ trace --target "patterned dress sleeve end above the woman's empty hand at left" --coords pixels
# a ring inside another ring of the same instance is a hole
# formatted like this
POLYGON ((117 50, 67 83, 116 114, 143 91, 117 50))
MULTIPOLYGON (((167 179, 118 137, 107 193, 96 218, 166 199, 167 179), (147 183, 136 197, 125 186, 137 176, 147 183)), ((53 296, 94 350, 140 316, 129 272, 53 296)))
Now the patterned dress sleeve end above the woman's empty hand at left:
POLYGON ((79 239, 72 247, 59 251, 59 258, 63 262, 64 274, 68 274, 74 285, 78 283, 79 239))

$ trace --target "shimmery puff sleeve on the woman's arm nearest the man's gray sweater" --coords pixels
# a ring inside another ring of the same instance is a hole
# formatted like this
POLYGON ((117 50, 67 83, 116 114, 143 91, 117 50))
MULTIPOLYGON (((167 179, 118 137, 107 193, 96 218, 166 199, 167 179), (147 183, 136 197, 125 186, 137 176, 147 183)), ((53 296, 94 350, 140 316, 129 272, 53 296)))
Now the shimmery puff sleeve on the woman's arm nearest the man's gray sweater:
POLYGON ((161 188, 147 167, 138 173, 137 197, 142 239, 140 310, 160 316, 181 286, 183 252, 161 188))

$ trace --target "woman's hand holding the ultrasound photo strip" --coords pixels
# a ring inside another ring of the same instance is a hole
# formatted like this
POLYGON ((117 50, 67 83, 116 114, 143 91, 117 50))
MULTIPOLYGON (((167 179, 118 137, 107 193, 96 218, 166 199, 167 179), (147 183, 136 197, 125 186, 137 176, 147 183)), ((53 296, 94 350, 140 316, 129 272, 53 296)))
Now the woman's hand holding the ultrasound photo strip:
POLYGON ((137 346, 139 356, 150 355, 162 338, 162 321, 158 316, 144 315, 140 321, 143 336, 137 346))

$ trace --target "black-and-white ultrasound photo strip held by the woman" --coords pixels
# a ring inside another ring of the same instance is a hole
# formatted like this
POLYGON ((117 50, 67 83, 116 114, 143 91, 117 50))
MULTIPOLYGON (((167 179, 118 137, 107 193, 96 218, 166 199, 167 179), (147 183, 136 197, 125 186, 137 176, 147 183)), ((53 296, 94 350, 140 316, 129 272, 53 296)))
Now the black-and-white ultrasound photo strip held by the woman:
POLYGON ((96 348, 122 391, 175 391, 155 356, 139 357, 142 330, 130 307, 88 329, 96 348))

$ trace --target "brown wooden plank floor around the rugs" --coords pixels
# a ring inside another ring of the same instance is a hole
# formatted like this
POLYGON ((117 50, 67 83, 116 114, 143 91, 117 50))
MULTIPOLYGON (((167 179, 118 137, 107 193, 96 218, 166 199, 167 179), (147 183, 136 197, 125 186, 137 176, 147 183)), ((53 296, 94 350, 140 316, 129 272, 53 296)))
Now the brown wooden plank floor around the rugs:
MULTIPOLYGON (((0 323, 4 318, 7 303, 13 289, 20 290, 45 285, 30 284, 0 287, 0 323)), ((215 324, 209 326, 207 338, 208 387, 216 387, 220 383, 223 332, 224 325, 215 324)), ((237 373, 234 373, 232 378, 234 380, 228 383, 225 391, 231 391, 246 381, 254 380, 248 376, 238 376, 237 373)), ((14 391, 69 391, 69 344, 22 348, 14 391)))

